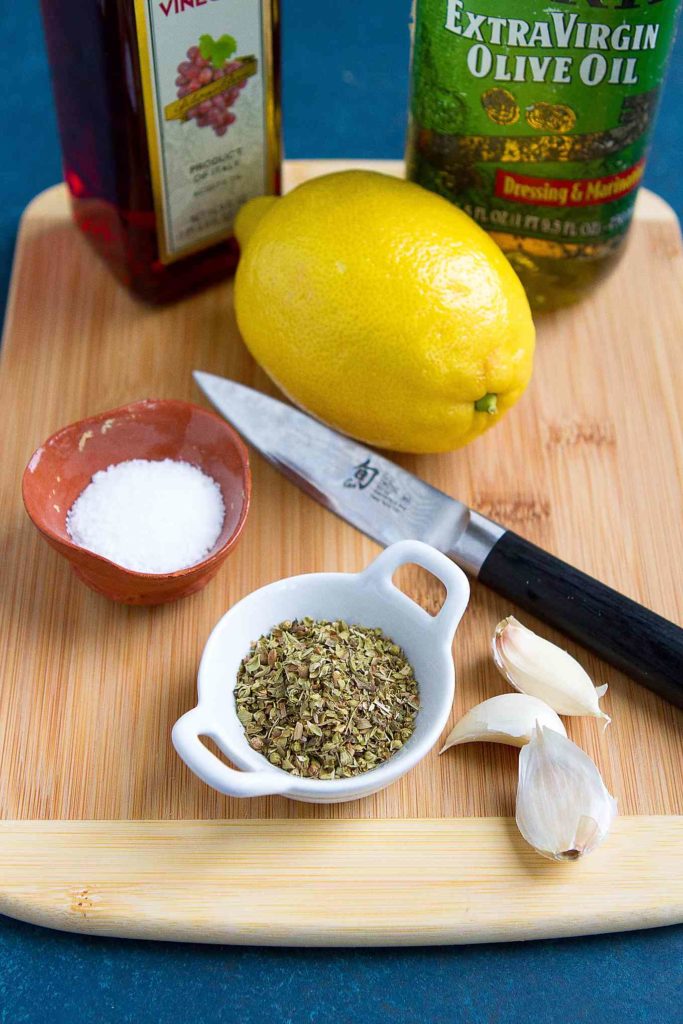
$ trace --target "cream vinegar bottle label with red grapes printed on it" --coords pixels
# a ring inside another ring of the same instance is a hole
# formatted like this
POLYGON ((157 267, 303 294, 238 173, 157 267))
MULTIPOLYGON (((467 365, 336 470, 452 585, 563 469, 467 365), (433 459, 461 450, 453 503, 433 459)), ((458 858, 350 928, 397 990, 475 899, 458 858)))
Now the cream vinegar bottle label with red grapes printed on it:
POLYGON ((228 238, 243 203, 271 190, 269 4, 134 2, 159 253, 170 263, 228 238))

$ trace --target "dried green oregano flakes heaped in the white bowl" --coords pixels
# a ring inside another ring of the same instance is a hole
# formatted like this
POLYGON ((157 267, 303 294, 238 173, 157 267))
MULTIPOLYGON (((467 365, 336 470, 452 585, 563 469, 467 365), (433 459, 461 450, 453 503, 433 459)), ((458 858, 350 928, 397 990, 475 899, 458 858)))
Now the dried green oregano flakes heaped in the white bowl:
POLYGON ((400 750, 418 684, 381 630, 312 618, 281 623, 251 645, 234 689, 249 742, 305 778, 348 778, 400 750))

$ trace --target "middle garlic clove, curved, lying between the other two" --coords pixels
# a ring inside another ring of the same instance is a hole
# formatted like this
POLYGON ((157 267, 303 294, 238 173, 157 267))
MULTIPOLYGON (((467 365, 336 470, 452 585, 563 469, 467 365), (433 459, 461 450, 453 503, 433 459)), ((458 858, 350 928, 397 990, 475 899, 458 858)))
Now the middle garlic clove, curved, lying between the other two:
POLYGON ((471 708, 458 721, 440 750, 459 743, 528 743, 536 726, 547 726, 562 736, 566 730, 552 708, 526 693, 499 693, 471 708))

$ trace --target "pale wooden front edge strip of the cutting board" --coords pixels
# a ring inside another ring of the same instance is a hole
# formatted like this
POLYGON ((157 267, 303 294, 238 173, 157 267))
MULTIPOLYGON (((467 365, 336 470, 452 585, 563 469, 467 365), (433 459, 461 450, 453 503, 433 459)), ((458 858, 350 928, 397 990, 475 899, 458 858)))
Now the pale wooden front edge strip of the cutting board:
POLYGON ((683 918, 683 819, 617 818, 585 860, 509 818, 0 822, 0 912, 245 945, 540 939, 683 918), (48 855, 49 852, 49 855, 48 855))

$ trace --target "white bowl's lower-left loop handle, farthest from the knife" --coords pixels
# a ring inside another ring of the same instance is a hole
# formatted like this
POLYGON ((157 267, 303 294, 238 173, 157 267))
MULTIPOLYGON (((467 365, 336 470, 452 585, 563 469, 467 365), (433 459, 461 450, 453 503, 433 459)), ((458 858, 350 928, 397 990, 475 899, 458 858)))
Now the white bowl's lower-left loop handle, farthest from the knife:
MULTIPOLYGON (((281 777, 274 768, 261 771, 228 768, 204 745, 200 736, 211 736, 220 742, 215 728, 205 724, 201 709, 193 708, 175 723, 171 739, 187 767, 219 793, 227 797, 265 797, 284 793, 289 787, 290 779, 281 777)), ((222 749, 224 744, 220 745, 222 749)))

